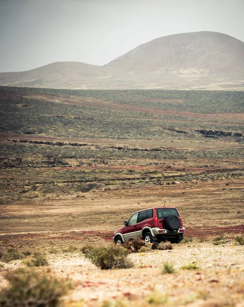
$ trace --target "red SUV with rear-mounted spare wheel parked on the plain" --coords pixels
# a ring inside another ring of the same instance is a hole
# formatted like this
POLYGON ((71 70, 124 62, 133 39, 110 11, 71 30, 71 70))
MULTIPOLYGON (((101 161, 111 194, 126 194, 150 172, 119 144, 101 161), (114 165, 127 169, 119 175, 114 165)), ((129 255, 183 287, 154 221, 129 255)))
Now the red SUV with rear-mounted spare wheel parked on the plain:
POLYGON ((113 241, 121 245, 130 238, 141 238, 145 243, 181 243, 185 228, 175 207, 159 207, 138 211, 124 222, 124 227, 113 233, 113 241))

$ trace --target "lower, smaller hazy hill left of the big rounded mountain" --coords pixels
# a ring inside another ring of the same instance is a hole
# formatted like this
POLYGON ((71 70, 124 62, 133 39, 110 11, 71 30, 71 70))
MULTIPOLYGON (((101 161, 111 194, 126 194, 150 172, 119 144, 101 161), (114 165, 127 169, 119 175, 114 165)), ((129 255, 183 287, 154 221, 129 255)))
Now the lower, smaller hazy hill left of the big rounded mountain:
POLYGON ((116 84, 116 80, 125 75, 128 73, 109 67, 80 62, 55 62, 25 72, 1 73, 0 85, 89 89, 108 86, 110 80, 116 84))

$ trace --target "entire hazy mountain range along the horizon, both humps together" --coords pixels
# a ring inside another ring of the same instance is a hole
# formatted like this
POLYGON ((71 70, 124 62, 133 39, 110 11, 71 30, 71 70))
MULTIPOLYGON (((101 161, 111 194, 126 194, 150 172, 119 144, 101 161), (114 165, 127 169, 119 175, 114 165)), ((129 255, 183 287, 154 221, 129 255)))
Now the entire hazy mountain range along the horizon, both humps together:
POLYGON ((217 32, 168 35, 103 67, 57 62, 0 74, 0 85, 66 89, 244 90, 244 42, 217 32))

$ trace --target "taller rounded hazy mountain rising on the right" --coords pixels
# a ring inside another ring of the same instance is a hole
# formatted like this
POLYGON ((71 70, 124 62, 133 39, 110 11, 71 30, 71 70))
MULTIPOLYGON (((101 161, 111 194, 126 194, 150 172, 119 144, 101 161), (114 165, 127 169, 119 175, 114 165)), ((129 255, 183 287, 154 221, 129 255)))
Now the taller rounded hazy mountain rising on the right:
POLYGON ((134 73, 238 74, 244 71, 244 42, 217 32, 169 35, 144 43, 105 67, 134 73))

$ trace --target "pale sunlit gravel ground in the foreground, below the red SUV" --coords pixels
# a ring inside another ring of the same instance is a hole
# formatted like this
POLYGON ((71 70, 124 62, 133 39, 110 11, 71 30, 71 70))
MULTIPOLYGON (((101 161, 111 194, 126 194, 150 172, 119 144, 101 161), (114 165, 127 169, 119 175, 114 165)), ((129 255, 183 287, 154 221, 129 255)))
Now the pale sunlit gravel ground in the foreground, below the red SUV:
MULTIPOLYGON (((66 306, 100 306, 104 301, 125 306, 151 304, 180 306, 244 306, 244 246, 227 242, 188 242, 173 245, 173 250, 130 254, 132 269, 105 270, 95 267, 79 253, 50 254, 52 272, 74 281, 75 289, 65 297, 66 306), (162 274, 165 262, 175 273, 162 274), (197 266, 187 270, 183 267, 197 266), (153 298, 153 299, 152 299, 153 298)), ((22 266, 12 261, 1 268, 1 286, 6 286, 4 272, 22 266)))

